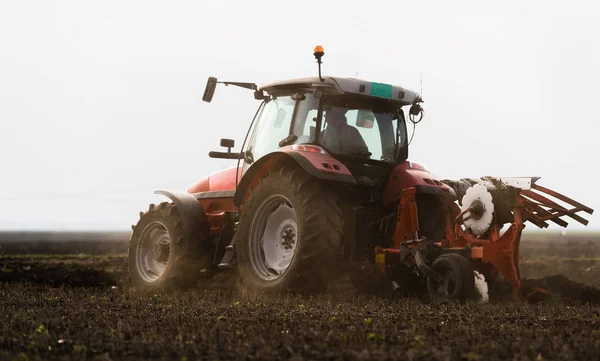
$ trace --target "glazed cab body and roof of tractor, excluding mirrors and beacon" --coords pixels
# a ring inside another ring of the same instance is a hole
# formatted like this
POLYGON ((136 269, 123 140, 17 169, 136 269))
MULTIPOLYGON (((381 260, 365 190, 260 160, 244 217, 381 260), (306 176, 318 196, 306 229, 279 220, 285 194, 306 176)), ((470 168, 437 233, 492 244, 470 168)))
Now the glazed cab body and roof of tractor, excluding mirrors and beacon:
POLYGON ((269 99, 253 138, 265 139, 264 135, 271 134, 270 144, 263 145, 267 151, 312 144, 341 158, 387 163, 406 159, 402 107, 416 99, 410 91, 338 77, 293 79, 266 84, 259 90, 269 94, 269 99))

